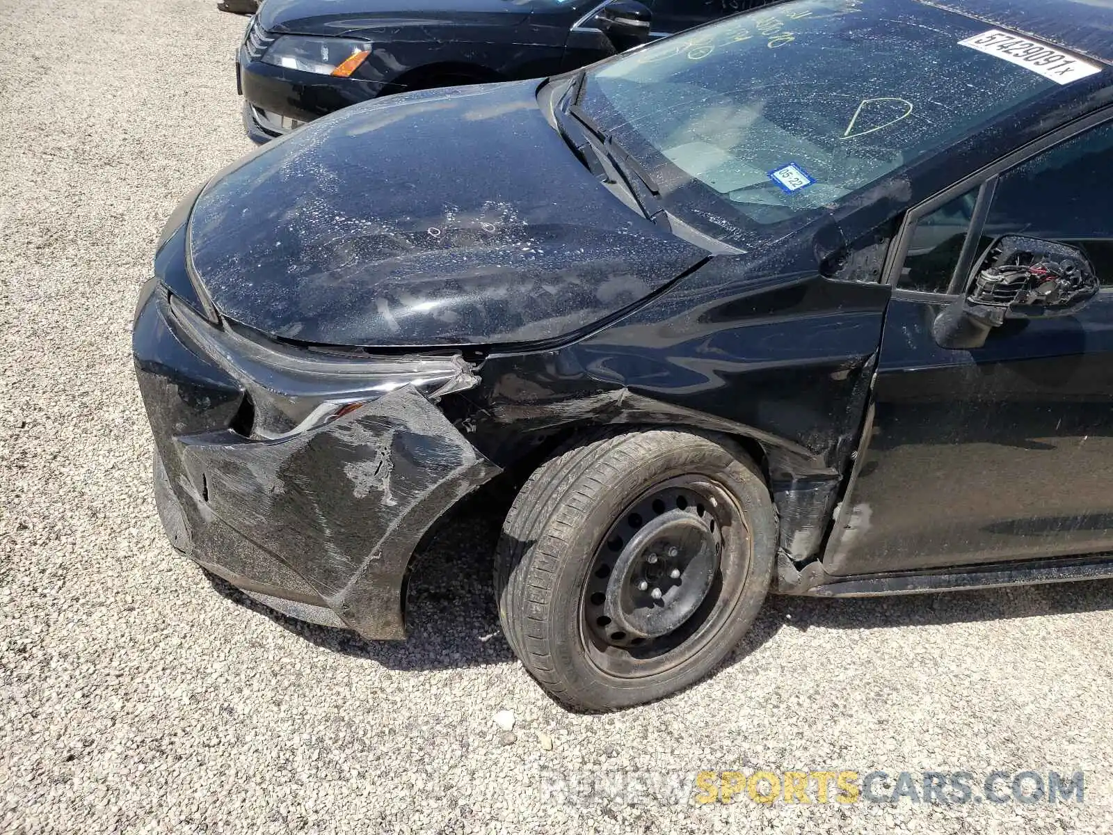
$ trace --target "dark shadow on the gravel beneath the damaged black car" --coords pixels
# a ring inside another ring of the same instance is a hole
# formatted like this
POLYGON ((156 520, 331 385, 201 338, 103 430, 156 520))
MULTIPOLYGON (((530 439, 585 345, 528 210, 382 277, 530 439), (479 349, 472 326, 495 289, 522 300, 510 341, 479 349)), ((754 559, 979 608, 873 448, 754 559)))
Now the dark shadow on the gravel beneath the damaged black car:
MULTIPOLYGON (((490 499, 490 497, 484 497, 490 499)), ((306 623, 256 602, 208 576, 221 595, 299 638, 388 669, 430 670, 514 661, 502 637, 491 588, 492 556, 509 507, 463 502, 418 556, 411 577, 405 641, 368 641, 344 629, 306 623)), ((1015 586, 883 598, 771 595, 722 667, 742 660, 782 628, 889 629, 1113 609, 1113 580, 1015 586)))

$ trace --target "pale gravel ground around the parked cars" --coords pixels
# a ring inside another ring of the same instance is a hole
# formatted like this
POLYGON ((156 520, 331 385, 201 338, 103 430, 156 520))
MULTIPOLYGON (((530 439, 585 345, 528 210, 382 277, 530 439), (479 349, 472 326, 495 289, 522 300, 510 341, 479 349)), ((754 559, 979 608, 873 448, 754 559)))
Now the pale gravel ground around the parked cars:
POLYGON ((210 0, 0 4, 0 832, 1110 831, 1113 583, 775 599, 715 678, 600 717, 499 635, 490 514, 432 549, 406 644, 268 617, 171 552, 129 324, 162 219, 248 150, 243 28, 210 0), (737 768, 1086 793, 684 802, 737 768))

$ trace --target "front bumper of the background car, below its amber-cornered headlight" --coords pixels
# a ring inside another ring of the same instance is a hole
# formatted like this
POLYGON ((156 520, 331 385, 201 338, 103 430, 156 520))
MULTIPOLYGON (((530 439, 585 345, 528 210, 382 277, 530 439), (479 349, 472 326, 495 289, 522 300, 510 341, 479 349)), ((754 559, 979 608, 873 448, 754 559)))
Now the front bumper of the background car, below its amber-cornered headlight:
POLYGON ((313 121, 348 105, 405 89, 386 81, 334 78, 275 67, 252 60, 243 48, 236 61, 239 91, 244 96, 244 127, 256 143, 288 132, 289 127, 283 121, 313 121))

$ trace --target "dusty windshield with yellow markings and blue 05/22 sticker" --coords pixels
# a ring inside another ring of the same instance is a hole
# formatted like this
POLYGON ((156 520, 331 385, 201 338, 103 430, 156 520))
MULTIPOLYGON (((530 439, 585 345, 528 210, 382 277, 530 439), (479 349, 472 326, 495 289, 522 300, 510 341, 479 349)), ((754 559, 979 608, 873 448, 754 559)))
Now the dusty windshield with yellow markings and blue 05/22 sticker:
MULTIPOLYGON (((915 0, 778 4, 592 70, 580 107, 652 173, 670 212, 699 189, 718 236, 745 243, 1060 88, 959 42, 991 29, 915 0)), ((1054 51, 1043 67, 1071 60, 1054 51)))

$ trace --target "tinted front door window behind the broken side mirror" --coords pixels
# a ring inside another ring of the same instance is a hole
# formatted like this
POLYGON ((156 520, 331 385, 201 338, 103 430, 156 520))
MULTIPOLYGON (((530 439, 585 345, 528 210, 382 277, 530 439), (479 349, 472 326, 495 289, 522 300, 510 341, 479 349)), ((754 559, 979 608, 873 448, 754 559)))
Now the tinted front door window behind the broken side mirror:
POLYGON ((1024 234, 1083 249, 1113 286, 1113 125, 1056 145, 997 183, 986 235, 1024 234))

